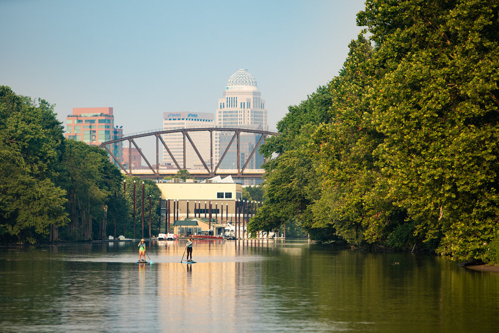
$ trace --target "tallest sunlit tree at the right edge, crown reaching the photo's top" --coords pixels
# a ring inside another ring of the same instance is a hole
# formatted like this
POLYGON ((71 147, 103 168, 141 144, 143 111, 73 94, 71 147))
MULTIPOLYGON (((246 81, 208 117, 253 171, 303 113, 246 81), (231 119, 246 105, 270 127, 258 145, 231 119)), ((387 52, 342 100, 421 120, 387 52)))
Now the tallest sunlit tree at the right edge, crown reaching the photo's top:
POLYGON ((386 136, 375 151, 386 197, 455 260, 487 261, 499 237, 498 9, 373 0, 358 15, 377 44, 368 98, 386 136))

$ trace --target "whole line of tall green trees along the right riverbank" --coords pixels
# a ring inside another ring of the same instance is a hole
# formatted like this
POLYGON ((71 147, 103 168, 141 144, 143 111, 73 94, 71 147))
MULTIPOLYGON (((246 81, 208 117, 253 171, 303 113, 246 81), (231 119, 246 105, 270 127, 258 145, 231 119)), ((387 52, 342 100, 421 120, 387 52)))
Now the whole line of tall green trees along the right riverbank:
POLYGON ((260 148, 250 229, 499 263, 498 8, 366 1, 340 73, 260 148))

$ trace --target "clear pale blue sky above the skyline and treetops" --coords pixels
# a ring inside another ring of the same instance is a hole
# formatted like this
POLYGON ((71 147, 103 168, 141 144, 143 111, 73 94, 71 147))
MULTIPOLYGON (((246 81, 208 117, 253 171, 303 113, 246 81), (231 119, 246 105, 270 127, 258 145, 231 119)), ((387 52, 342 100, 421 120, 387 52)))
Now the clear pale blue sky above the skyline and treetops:
POLYGON ((245 68, 275 124, 337 75, 363 0, 0 0, 0 84, 73 107, 111 106, 124 133, 167 111, 215 112, 245 68))

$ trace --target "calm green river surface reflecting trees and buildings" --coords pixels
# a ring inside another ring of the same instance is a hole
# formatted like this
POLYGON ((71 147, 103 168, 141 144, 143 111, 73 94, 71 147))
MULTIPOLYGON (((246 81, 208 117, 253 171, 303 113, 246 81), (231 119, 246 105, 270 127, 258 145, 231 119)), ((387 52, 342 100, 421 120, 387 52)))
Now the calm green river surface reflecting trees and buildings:
POLYGON ((0 248, 1 332, 499 332, 499 274, 300 241, 0 248))

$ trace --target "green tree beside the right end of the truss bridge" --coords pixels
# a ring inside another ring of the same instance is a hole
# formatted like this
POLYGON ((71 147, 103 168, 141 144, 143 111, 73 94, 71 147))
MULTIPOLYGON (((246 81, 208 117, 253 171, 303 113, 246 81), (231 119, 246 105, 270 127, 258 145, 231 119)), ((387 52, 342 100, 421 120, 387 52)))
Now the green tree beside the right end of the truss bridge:
POLYGON ((316 126, 329 118, 330 97, 322 86, 300 105, 290 106, 277 123, 281 135, 261 145, 259 152, 268 159, 263 165, 265 193, 263 206, 250 220, 250 233, 269 232, 291 221, 299 221, 300 227, 310 223, 309 205, 317 198, 320 183, 306 147, 316 126), (279 155, 271 158, 274 153, 279 155))

